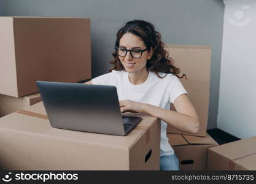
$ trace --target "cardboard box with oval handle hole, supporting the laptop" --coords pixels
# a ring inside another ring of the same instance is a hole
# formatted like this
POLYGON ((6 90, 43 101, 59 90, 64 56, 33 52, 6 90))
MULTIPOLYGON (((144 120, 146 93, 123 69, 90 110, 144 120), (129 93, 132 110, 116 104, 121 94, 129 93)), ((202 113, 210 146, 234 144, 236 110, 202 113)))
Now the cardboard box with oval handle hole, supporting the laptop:
POLYGON ((126 136, 52 128, 44 105, 0 118, 6 170, 159 170, 160 121, 145 113, 126 136))

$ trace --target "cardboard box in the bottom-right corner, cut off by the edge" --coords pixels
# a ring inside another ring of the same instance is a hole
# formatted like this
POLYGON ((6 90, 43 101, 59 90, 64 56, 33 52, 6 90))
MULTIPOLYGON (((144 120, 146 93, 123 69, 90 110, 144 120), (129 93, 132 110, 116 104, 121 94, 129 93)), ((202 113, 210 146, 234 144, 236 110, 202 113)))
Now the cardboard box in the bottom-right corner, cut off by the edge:
POLYGON ((209 148, 207 170, 256 170, 256 136, 209 148))

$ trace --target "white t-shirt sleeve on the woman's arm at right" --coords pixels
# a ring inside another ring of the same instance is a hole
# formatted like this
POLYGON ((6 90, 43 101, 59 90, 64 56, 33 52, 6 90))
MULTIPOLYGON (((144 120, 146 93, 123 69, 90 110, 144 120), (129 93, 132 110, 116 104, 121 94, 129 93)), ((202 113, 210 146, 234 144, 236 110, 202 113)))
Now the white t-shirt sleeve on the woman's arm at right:
POLYGON ((184 86, 176 76, 173 76, 173 79, 171 79, 169 88, 169 99, 172 104, 176 100, 176 98, 179 97, 181 94, 187 94, 187 91, 185 90, 184 86))

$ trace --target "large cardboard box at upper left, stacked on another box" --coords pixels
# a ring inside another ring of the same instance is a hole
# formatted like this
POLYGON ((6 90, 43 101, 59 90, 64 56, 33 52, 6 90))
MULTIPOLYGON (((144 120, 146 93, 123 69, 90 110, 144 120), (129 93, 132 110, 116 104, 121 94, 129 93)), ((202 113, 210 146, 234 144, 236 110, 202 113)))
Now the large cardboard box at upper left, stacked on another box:
POLYGON ((36 80, 91 78, 89 18, 0 17, 0 94, 37 93, 36 80))

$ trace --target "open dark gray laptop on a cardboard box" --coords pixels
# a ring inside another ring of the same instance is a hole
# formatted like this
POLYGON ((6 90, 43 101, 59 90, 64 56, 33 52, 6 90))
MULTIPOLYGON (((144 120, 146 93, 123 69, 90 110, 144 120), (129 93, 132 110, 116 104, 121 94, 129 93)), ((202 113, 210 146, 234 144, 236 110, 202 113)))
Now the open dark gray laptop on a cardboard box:
POLYGON ((115 86, 37 81, 53 128, 125 136, 140 117, 122 116, 115 86))

